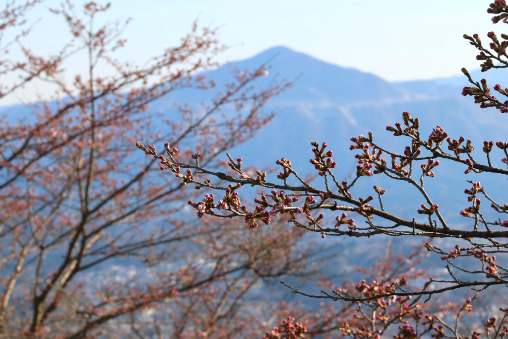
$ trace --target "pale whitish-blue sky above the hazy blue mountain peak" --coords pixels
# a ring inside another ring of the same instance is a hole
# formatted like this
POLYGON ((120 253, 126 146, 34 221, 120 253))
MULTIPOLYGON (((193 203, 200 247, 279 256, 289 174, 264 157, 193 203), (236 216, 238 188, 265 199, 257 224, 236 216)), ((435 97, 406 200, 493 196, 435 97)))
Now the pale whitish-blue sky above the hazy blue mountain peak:
MULTIPOLYGON (((60 0, 46 0, 45 7, 60 0)), ((82 0, 74 3, 84 3, 82 0)), ((339 66, 370 72, 386 80, 429 79, 478 68, 464 33, 498 35, 506 24, 490 22, 489 0, 113 0, 108 20, 132 17, 124 37, 124 56, 139 63, 176 45, 195 19, 220 26, 232 61, 283 45, 339 66)), ((67 39, 61 19, 43 8, 26 44, 48 51, 67 39)), ((77 65, 79 66, 79 65, 77 65)), ((72 66, 70 67, 72 68, 72 66)))

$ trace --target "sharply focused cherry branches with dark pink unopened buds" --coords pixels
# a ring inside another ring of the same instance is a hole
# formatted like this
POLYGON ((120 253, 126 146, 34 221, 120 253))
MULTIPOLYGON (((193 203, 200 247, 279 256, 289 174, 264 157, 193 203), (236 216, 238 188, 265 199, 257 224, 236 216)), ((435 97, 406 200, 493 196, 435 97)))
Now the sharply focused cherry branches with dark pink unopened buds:
MULTIPOLYGON (((508 6, 504 0, 493 2, 488 12, 494 14, 493 23, 508 23, 508 6)), ((502 34, 499 38, 494 32, 489 32, 487 37, 490 43, 485 46, 477 34, 472 37, 464 35, 479 50, 477 59, 482 60, 482 71, 508 67, 508 35, 502 34)), ((493 96, 485 79, 478 82, 467 70, 462 69, 462 72, 470 82, 463 89, 464 96, 473 96, 474 102, 482 108, 493 107, 500 113, 508 111, 508 100, 493 96)), ((493 90, 508 97, 508 88, 503 89, 496 84, 493 90)), ((444 217, 449 214, 448 211, 444 213, 425 188, 427 180, 439 180, 440 167, 451 164, 463 166, 465 174, 493 173, 500 176, 499 180, 505 180, 508 174, 508 142, 482 140, 480 147, 475 149, 478 141, 473 142, 463 136, 453 136, 457 138, 453 139, 440 126, 422 131, 420 119, 409 112, 403 112, 402 122, 387 126, 386 130, 394 137, 406 140, 407 146, 402 151, 391 150, 378 143, 371 132, 366 136, 352 137, 350 149, 356 151, 355 158, 358 160, 352 180, 338 179, 337 162, 332 160, 334 152, 326 142, 312 141, 309 147, 309 162, 319 179, 306 178, 285 158, 275 161, 280 168, 275 179, 266 172, 245 167, 241 158, 235 159, 229 154, 226 169, 217 170, 204 164, 206 157, 201 148, 189 157, 177 152, 171 143, 165 144, 164 151, 157 151, 153 145, 137 143, 137 146, 159 160, 161 170, 173 172, 182 185, 194 184, 196 188, 207 189, 216 195, 207 193, 202 199, 188 201, 199 218, 236 219, 254 232, 262 224, 275 228, 273 223, 282 219, 297 229, 319 233, 323 238, 388 236, 428 239, 426 250, 439 255, 446 265, 448 273, 444 278, 427 275, 425 283, 408 285, 404 274, 390 275, 385 281, 362 281, 349 288, 330 284, 322 289, 321 294, 306 293, 282 282, 293 292, 310 298, 357 303, 355 319, 364 319, 365 323, 345 323, 340 329, 343 335, 380 337, 391 324, 386 307, 398 305, 400 317, 396 319, 402 320, 410 314, 414 323, 404 320, 405 324, 398 328, 396 338, 417 338, 427 333, 432 337, 504 337, 508 331, 505 307, 499 309, 499 318, 490 318, 483 330, 474 330, 471 334, 462 333, 464 327, 459 324, 471 311, 474 296, 460 302, 456 314, 448 319, 423 312, 420 301, 453 290, 467 288, 468 291, 482 292, 489 287, 505 288, 508 284, 508 267, 503 264, 508 247, 505 241, 508 220, 504 220, 503 215, 508 213, 508 204, 492 198, 489 188, 479 181, 467 180, 462 188, 464 207, 455 211, 462 215, 467 226, 456 227, 444 217), (373 181, 376 176, 403 182, 408 189, 419 194, 422 205, 414 211, 414 217, 399 215, 390 211, 390 206, 385 206, 385 194, 390 194, 387 189, 374 185, 371 192, 358 193, 356 184, 360 180, 373 181), (261 193, 252 197, 252 191, 242 190, 244 187, 257 187, 261 193), (441 249, 431 241, 433 238, 450 239, 457 245, 441 249), (374 311, 363 313, 366 308, 374 311), (450 318, 453 320, 451 323, 450 318), (387 326, 382 324, 379 327, 377 323, 380 320, 386 320, 387 326)), ((422 281, 421 276, 419 279, 422 281)), ((451 312, 453 307, 448 310, 451 312)), ((265 337, 305 337, 308 331, 304 322, 290 317, 265 337)))

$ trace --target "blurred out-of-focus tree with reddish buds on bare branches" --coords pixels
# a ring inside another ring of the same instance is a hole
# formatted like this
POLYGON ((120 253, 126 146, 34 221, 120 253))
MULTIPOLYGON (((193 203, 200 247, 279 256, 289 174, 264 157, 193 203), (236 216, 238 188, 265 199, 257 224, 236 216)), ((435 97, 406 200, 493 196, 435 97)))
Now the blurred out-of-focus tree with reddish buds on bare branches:
POLYGON ((18 120, 8 107, 0 125, 0 338, 258 337, 283 310, 249 293, 312 269, 304 233, 246 237, 230 221, 188 220, 181 201, 192 195, 161 185, 157 160, 140 160, 134 141, 170 140, 190 157, 188 147, 206 140, 202 164, 216 166, 270 121, 263 106, 289 84, 256 88, 264 66, 237 70, 211 103, 179 103, 158 117, 147 110, 154 100, 215 86, 199 73, 224 49, 215 29, 195 24, 138 66, 116 59, 127 22, 103 23, 110 4, 76 14, 67 1, 50 15, 68 25, 70 41, 43 57, 23 44, 26 14, 40 6, 8 1, 0 12, 0 74, 18 79, 2 83, 0 98, 30 83, 55 93, 18 120), (13 51, 22 58, 10 59, 13 51), (86 60, 81 73, 69 74, 76 60, 86 60))

